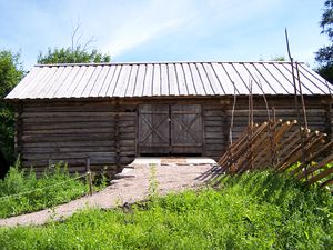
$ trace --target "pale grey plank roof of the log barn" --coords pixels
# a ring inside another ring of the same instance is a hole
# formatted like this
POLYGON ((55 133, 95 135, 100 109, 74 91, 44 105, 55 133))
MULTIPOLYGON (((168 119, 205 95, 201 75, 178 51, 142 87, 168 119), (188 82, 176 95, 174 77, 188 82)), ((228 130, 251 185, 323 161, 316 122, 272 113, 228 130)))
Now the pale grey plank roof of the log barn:
MULTIPOLYGON (((299 64, 303 94, 333 87, 299 64)), ((148 62, 39 64, 6 99, 293 94, 289 62, 148 62)))

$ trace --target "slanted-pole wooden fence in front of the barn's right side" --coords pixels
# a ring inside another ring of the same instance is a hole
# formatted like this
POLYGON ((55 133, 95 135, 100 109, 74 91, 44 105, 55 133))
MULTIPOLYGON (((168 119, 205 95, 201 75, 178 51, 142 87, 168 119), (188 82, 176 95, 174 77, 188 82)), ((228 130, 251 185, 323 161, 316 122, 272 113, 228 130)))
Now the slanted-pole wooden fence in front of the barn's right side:
POLYGON ((309 184, 333 186, 333 141, 296 124, 282 120, 249 124, 219 164, 230 173, 271 168, 309 184))

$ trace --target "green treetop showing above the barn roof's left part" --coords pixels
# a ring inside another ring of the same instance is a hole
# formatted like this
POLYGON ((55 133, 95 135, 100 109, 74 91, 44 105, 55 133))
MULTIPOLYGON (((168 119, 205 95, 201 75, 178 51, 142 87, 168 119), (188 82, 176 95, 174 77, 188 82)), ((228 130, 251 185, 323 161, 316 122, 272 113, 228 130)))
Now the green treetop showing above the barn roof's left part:
POLYGON ((54 48, 48 49, 48 52, 43 54, 42 52, 38 56, 38 63, 83 63, 83 62, 110 62, 111 58, 109 54, 102 54, 98 50, 93 49, 91 51, 78 46, 75 48, 54 48))

